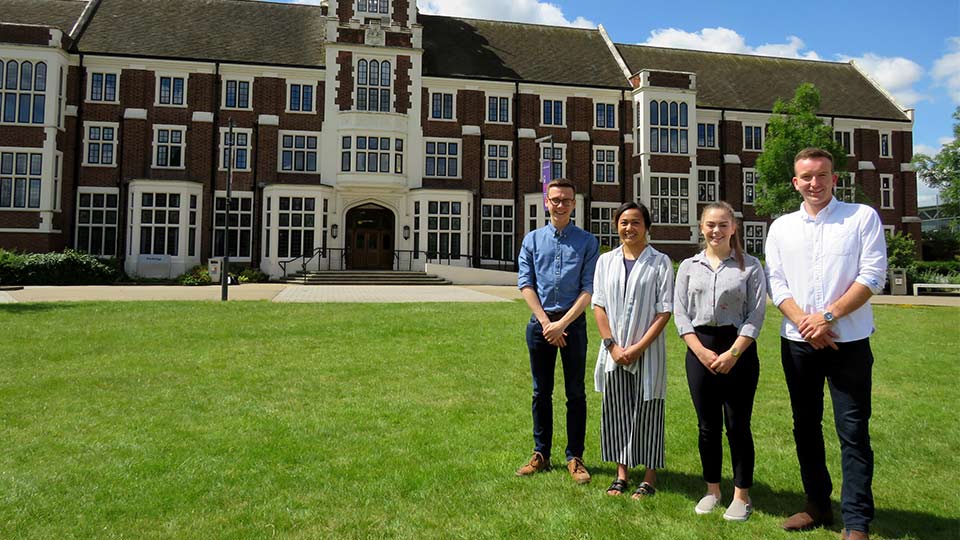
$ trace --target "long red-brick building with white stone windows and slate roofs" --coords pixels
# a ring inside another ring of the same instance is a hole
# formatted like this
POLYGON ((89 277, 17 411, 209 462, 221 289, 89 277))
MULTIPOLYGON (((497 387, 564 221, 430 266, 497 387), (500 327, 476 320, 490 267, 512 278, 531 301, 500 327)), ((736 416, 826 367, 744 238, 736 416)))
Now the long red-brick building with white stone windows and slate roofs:
POLYGON ((546 220, 547 162, 604 244, 612 210, 640 200, 653 244, 687 256, 698 205, 724 199, 757 252, 770 219, 754 212, 753 166, 773 103, 803 82, 849 148, 838 196, 858 190, 886 227, 920 234, 912 111, 852 64, 616 44, 406 0, 0 0, 0 13, 4 248, 75 247, 136 275, 225 249, 273 276, 304 257, 512 269, 546 220))

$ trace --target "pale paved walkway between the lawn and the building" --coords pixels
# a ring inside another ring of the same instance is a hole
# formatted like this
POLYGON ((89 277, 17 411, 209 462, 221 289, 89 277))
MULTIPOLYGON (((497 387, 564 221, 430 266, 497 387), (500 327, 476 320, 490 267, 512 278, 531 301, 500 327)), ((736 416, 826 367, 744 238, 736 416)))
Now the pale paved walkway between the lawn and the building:
MULTIPOLYGON (((247 283, 230 287, 231 301, 272 302, 507 302, 521 298, 516 287, 493 285, 288 285, 247 283)), ((82 302, 145 300, 220 300, 220 286, 87 285, 75 287, 28 286, 0 289, 0 304, 15 302, 82 302)), ((954 296, 874 296, 874 304, 960 307, 954 296)))

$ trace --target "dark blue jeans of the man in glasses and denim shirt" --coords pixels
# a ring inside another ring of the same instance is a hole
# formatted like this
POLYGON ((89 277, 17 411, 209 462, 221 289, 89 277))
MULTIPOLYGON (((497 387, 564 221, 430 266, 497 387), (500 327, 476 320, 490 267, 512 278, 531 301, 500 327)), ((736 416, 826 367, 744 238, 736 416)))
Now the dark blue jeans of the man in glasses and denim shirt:
MULTIPOLYGON (((549 315, 549 314, 548 314, 549 315)), ((559 319, 560 315, 556 316, 559 319)), ((555 320, 551 316, 551 320, 555 320)), ((567 346, 560 349, 563 385, 567 396, 567 460, 583 457, 583 439, 587 431, 587 393, 583 373, 587 360, 587 318, 581 314, 567 327, 567 346)), ((527 324, 527 348, 533 375, 534 450, 550 459, 553 446, 553 379, 557 365, 557 347, 543 337, 543 327, 535 317, 527 324)))

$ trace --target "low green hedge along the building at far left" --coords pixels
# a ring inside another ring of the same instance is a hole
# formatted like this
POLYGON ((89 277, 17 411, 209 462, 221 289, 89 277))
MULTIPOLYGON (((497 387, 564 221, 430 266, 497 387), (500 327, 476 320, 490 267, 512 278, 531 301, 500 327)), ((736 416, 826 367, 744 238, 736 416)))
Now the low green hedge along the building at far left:
POLYGON ((119 277, 116 261, 101 261, 72 249, 53 253, 0 250, 0 283, 5 285, 103 285, 119 277))

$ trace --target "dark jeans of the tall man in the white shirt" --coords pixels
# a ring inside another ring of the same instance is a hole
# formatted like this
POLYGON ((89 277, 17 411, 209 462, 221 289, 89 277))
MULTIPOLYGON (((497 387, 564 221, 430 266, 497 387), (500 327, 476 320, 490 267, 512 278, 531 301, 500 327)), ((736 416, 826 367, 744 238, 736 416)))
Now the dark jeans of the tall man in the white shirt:
POLYGON ((830 386, 833 420, 840 438, 843 524, 866 532, 873 520, 873 450, 870 448, 870 340, 837 343, 839 350, 815 350, 809 343, 780 338, 780 358, 793 409, 800 477, 807 500, 830 508, 833 484, 823 446, 823 381, 830 386))

